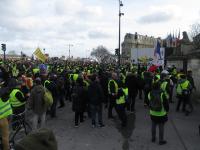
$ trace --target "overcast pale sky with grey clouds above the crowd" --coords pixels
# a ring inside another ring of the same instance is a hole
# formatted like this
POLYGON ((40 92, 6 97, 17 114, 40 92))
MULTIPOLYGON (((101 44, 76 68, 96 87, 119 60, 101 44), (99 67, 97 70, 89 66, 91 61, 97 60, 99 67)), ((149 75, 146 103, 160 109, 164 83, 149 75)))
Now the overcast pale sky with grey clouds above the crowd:
MULTIPOLYGON (((166 37, 200 20, 200 0, 123 0, 125 33, 166 37)), ((31 55, 86 57, 92 48, 118 46, 118 0, 0 0, 0 43, 31 55)), ((1 52, 2 53, 2 52, 1 52)))

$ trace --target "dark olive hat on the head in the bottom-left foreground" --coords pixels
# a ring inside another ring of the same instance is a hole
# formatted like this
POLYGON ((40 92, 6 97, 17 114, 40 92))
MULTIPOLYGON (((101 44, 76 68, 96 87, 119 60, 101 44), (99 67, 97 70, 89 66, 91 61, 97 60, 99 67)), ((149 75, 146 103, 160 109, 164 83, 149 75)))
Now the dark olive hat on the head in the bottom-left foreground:
POLYGON ((40 129, 15 144, 15 150, 57 150, 57 141, 49 129, 40 129))

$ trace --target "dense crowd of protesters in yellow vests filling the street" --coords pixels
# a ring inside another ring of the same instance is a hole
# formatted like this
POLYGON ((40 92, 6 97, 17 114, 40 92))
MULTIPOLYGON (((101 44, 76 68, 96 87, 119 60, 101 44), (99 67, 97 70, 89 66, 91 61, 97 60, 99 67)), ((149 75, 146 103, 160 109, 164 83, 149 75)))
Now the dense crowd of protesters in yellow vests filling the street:
MULTIPOLYGON (((159 144, 164 140, 164 124, 168 120, 169 103, 177 96, 176 111, 187 116, 193 111, 190 99, 195 88, 192 72, 175 66, 147 66, 145 64, 98 64, 96 62, 57 61, 42 64, 39 61, 7 61, 0 66, 0 130, 3 150, 9 150, 9 123, 12 114, 32 110, 34 131, 45 127, 46 115, 57 117, 57 109, 72 103, 74 126, 87 118, 91 127, 104 127, 103 117, 113 119, 115 110, 121 127, 127 126, 127 114, 135 113, 138 96, 149 108, 152 120, 152 142, 156 141, 159 126, 159 144), (53 102, 45 104, 46 91, 53 102), (176 91, 176 93, 173 93, 176 91), (107 116, 103 116, 103 106, 107 116), (182 105, 182 106, 181 106, 182 105)), ((12 118, 17 120, 17 118, 12 118)), ((73 120, 71 120, 73 121, 73 120)), ((15 128, 14 126, 12 127, 15 128)))

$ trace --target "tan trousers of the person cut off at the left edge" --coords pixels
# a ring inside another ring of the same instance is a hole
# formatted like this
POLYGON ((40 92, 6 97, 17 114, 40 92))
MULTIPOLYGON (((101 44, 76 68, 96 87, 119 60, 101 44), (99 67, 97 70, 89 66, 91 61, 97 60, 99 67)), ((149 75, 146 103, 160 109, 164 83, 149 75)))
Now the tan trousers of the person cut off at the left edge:
POLYGON ((9 150, 9 124, 8 119, 0 119, 0 131, 2 136, 3 150, 9 150))

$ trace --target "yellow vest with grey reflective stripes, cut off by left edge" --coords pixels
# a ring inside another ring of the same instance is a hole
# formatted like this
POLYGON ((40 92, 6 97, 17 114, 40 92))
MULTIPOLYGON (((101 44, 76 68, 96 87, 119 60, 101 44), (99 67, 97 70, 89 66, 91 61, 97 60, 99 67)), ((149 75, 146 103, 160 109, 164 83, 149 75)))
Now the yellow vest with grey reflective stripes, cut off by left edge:
POLYGON ((7 118, 12 114, 13 112, 9 100, 3 102, 2 99, 0 98, 0 119, 7 118))

